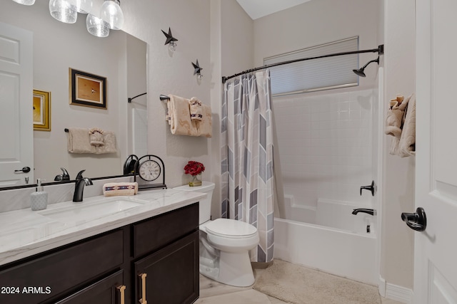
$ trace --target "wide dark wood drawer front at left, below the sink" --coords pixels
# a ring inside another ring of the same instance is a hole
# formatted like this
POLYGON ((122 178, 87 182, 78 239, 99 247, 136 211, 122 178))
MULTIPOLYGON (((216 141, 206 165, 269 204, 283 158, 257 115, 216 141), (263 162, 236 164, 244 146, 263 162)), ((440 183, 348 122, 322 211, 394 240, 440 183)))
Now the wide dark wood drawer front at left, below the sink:
POLYGON ((114 231, 0 271, 0 286, 19 288, 0 303, 41 303, 114 270, 124 261, 123 236, 114 231))

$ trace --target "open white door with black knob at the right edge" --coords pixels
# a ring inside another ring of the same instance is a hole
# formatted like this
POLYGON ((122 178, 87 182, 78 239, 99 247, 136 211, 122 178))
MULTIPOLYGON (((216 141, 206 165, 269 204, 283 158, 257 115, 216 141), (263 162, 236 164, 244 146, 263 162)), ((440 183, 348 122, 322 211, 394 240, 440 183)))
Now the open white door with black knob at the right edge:
POLYGON ((414 304, 457 303, 457 1, 416 1, 414 304))

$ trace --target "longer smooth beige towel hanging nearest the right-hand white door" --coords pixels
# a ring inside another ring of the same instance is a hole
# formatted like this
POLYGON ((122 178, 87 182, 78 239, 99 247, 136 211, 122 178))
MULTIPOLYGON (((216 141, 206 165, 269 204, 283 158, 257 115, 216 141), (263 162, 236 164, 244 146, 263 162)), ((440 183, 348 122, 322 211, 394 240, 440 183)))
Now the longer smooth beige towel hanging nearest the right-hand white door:
POLYGON ((398 143, 398 155, 408 157, 416 154, 416 97, 409 97, 406 117, 398 143))

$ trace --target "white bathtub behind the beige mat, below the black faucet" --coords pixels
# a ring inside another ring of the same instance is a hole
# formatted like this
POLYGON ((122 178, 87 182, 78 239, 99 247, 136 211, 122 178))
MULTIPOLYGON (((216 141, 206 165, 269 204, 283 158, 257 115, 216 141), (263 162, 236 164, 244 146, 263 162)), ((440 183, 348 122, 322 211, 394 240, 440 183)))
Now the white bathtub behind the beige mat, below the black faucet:
POLYGON ((275 218, 274 258, 377 285, 376 217, 356 208, 367 206, 319 199, 316 224, 275 218))

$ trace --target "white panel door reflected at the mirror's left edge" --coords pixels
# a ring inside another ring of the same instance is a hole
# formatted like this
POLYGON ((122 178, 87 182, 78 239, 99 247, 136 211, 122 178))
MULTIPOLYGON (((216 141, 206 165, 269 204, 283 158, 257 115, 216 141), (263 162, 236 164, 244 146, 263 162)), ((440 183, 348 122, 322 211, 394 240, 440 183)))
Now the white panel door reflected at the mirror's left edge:
POLYGON ((34 183, 32 95, 32 33, 0 23, 0 187, 34 183))

